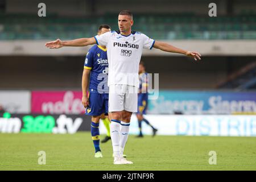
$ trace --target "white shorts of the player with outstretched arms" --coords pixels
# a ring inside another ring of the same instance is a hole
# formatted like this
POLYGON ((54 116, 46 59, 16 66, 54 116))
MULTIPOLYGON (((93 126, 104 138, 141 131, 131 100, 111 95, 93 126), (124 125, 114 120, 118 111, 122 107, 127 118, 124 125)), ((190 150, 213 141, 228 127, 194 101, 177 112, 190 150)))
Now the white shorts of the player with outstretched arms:
POLYGON ((109 86, 109 112, 138 111, 138 88, 131 85, 109 86))

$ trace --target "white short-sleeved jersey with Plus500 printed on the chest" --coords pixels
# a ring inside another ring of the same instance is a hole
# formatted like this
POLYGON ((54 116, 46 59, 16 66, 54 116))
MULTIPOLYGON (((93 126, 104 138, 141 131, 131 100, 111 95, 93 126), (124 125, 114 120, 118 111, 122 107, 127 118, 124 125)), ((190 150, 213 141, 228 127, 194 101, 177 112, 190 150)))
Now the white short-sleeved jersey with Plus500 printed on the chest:
POLYGON ((100 46, 106 46, 109 61, 109 85, 132 85, 139 87, 139 61, 143 48, 152 49, 155 40, 139 32, 128 36, 111 31, 94 36, 100 46))

